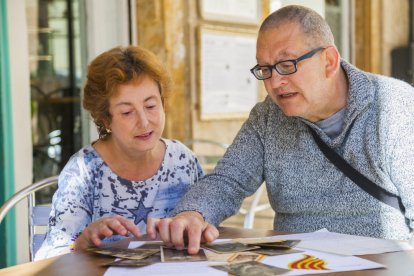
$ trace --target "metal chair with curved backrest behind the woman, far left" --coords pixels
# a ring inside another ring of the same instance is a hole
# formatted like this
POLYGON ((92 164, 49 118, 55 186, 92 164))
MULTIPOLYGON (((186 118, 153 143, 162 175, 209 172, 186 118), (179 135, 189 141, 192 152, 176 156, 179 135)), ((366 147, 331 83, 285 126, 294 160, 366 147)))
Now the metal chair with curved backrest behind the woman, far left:
POLYGON ((58 183, 58 176, 51 176, 36 183, 33 183, 17 193, 15 193, 9 200, 7 200, 0 208, 0 223, 8 212, 21 200, 28 199, 28 225, 29 225, 29 253, 30 261, 33 261, 34 255, 45 239, 45 233, 36 233, 35 230, 39 226, 46 226, 49 222, 50 205, 36 205, 35 192, 43 188, 55 185, 58 183))

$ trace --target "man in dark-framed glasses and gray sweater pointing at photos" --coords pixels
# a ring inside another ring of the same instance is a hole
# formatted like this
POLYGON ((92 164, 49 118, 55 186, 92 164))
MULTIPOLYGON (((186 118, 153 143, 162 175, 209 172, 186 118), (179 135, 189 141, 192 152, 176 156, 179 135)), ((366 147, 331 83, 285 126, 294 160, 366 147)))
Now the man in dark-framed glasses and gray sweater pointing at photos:
POLYGON ((274 229, 330 231, 407 240, 414 228, 414 89, 341 60, 332 32, 316 12, 287 6, 262 24, 257 65, 268 97, 250 113, 214 173, 152 221, 155 237, 188 251, 218 237, 214 225, 233 215, 265 181, 274 229), (329 161, 311 129, 352 167, 391 194, 404 212, 371 196, 329 161))

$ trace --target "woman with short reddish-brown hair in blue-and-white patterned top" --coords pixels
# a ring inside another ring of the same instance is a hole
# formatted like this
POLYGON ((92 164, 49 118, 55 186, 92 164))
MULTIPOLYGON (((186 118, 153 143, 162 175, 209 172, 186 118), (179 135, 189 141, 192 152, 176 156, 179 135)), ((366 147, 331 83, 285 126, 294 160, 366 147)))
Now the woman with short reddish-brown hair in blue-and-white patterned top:
POLYGON ((59 176, 46 239, 36 259, 139 238, 203 175, 183 144, 161 138, 167 72, 141 47, 117 47, 88 68, 83 106, 99 139, 74 154, 59 176))

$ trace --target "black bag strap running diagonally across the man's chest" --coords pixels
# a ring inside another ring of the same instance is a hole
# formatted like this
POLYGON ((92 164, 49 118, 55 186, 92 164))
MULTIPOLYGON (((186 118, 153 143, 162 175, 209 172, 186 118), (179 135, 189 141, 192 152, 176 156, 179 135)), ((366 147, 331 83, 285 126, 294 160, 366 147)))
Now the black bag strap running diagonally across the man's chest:
POLYGON ((349 179, 357 184, 362 190, 371 196, 375 197, 379 201, 394 207, 401 213, 405 213, 405 207, 402 204, 401 197, 394 195, 387 190, 384 190, 368 178, 366 178, 359 171, 354 169, 345 159, 342 158, 336 151, 330 148, 322 139, 316 134, 315 130, 309 127, 311 130, 313 139, 318 145, 319 149, 339 170, 341 170, 349 179))

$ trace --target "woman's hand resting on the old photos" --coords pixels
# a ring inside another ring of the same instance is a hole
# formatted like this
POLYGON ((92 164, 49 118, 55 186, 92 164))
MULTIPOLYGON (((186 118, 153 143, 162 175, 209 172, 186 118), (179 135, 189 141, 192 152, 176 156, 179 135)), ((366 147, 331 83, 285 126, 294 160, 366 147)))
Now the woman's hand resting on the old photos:
POLYGON ((101 218, 89 224, 83 230, 82 234, 75 241, 74 249, 82 250, 88 247, 99 246, 106 237, 113 235, 128 236, 129 233, 137 239, 142 236, 138 226, 124 217, 116 215, 101 218))

